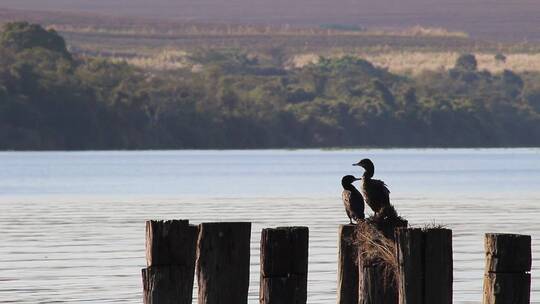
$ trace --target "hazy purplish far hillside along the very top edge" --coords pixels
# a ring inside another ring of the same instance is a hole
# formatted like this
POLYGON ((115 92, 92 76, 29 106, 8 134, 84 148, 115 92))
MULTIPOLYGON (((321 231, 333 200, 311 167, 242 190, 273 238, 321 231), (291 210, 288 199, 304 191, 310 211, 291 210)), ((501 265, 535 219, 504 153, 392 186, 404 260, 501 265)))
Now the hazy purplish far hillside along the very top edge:
POLYGON ((0 8, 182 22, 402 28, 421 25, 500 41, 540 41, 537 0, 2 0, 0 8))

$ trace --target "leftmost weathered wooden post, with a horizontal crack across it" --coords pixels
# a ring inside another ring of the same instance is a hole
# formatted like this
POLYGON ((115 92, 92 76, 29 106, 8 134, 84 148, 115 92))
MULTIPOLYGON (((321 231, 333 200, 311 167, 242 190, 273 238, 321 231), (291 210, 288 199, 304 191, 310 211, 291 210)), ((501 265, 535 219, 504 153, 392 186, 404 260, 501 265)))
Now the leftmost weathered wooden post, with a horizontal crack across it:
POLYGON ((146 222, 145 304, 191 304, 197 234, 187 220, 146 222))

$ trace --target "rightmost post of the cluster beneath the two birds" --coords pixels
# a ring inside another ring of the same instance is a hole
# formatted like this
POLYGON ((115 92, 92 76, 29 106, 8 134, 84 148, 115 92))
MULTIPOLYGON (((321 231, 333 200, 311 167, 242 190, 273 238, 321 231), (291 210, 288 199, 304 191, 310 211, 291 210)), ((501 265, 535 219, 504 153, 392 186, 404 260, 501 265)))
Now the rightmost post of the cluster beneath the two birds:
POLYGON ((452 230, 424 230, 424 303, 452 304, 453 284, 452 230))

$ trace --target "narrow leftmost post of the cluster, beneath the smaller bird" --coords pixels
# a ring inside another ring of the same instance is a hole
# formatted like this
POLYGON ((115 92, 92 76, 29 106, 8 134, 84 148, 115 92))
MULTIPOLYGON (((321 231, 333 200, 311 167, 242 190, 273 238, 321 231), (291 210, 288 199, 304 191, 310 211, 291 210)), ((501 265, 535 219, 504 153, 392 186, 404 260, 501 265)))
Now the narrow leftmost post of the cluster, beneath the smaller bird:
POLYGON ((356 225, 339 225, 338 304, 358 304, 355 228, 356 225))

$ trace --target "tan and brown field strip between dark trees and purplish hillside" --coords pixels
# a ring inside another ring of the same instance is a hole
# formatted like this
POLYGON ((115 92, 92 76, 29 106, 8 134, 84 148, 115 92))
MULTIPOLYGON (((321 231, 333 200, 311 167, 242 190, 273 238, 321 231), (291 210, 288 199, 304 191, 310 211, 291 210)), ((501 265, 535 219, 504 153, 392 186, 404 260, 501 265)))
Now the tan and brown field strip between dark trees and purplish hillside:
POLYGON ((238 49, 258 56, 278 50, 288 67, 315 62, 319 56, 353 54, 394 73, 417 74, 451 68, 460 53, 474 53, 480 69, 540 71, 540 42, 494 42, 442 28, 343 31, 0 9, 0 23, 13 20, 55 28, 75 53, 157 70, 196 68, 189 57, 201 49, 238 49), (497 53, 505 54, 506 61, 495 60, 497 53))

